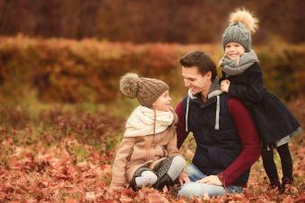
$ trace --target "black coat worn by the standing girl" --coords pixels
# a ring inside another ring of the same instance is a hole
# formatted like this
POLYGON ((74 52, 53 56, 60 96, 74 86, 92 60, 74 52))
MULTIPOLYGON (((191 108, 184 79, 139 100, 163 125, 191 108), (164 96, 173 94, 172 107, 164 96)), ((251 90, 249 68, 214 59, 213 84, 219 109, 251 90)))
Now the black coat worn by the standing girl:
POLYGON ((248 108, 266 144, 281 140, 300 128, 300 123, 283 102, 265 89, 258 63, 237 76, 226 77, 222 72, 223 79, 231 81, 229 97, 239 98, 248 108))

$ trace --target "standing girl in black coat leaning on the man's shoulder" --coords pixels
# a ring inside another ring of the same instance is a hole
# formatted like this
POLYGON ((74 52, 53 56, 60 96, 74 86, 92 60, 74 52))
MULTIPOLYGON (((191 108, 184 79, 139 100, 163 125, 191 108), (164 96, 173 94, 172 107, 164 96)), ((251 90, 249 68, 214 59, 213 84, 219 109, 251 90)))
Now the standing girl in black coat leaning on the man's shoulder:
POLYGON ((238 10, 231 13, 230 22, 222 35, 225 55, 221 60, 221 89, 248 107, 262 139, 263 165, 271 182, 269 189, 283 192, 285 184, 293 182, 288 142, 293 134, 301 131, 301 126, 287 107, 264 87, 257 55, 250 49, 251 32, 257 29, 257 19, 246 10, 238 10), (274 163, 274 148, 281 157, 282 184, 274 163))

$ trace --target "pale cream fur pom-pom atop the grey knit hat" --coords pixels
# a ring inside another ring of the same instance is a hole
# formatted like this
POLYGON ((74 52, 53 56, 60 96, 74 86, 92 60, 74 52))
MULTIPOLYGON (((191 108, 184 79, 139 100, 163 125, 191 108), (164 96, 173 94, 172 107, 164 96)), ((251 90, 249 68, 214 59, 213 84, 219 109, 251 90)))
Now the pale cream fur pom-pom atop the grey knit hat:
POLYGON ((241 8, 236 10, 236 12, 231 13, 229 21, 231 23, 234 22, 242 22, 246 25, 246 28, 250 30, 250 32, 254 33, 258 27, 257 18, 253 17, 252 13, 249 13, 246 9, 241 8))

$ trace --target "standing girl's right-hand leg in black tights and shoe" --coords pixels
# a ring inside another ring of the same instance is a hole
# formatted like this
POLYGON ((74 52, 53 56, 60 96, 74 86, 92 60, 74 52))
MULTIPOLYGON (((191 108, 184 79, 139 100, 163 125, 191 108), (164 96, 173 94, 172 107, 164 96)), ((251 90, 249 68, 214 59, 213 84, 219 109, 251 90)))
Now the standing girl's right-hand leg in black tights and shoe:
POLYGON ((281 145, 276 148, 277 152, 281 157, 281 164, 283 170, 283 179, 282 179, 282 187, 283 190, 286 184, 292 184, 293 176, 292 176, 292 156, 289 151, 288 143, 281 145))

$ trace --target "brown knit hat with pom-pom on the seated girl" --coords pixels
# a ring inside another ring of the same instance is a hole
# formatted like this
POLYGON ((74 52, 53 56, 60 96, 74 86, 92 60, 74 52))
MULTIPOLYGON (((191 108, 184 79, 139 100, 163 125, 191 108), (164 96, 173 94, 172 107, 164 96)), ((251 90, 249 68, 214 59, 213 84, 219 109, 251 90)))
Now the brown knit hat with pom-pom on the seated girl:
POLYGON ((119 81, 119 89, 126 97, 136 97, 142 106, 152 108, 153 102, 170 88, 164 81, 126 73, 119 81))

